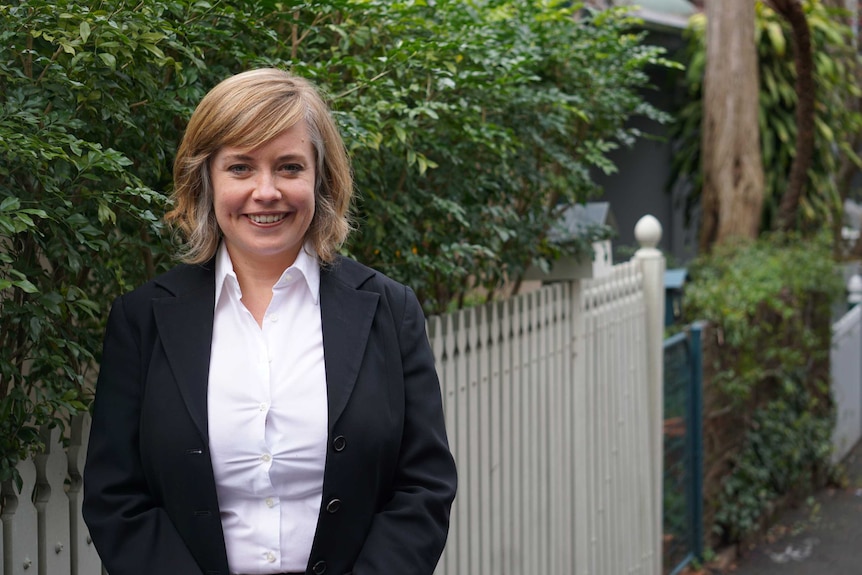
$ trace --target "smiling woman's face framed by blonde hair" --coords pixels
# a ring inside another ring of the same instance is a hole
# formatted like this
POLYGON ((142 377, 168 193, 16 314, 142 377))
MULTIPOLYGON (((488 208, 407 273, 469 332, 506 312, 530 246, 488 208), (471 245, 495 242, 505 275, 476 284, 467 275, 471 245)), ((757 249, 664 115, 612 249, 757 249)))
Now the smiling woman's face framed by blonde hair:
POLYGON ((305 122, 253 150, 218 151, 210 163, 213 208, 234 266, 293 264, 314 216, 314 172, 305 122))

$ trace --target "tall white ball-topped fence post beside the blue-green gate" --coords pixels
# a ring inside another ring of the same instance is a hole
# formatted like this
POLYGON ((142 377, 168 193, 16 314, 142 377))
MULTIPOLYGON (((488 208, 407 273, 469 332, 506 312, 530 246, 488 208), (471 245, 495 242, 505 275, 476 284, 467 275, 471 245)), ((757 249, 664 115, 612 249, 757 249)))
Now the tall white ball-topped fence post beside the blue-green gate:
POLYGON ((635 238, 640 249, 634 259, 640 263, 644 280, 644 300, 646 304, 646 347, 647 347, 647 381, 649 401, 650 427, 653 432, 650 461, 653 480, 653 522, 655 534, 653 540, 652 573, 662 572, 662 473, 663 473, 663 443, 662 418, 664 411, 664 271, 665 259, 658 250, 661 240, 661 224, 651 215, 638 220, 635 225, 635 238))

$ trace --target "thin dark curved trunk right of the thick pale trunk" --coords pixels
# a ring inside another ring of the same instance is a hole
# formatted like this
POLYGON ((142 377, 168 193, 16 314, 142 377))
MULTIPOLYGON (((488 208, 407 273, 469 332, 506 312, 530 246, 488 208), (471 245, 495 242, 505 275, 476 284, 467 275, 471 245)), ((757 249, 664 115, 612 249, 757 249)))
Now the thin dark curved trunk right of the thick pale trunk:
POLYGON ((769 3, 793 31, 793 61, 796 66, 796 156, 790 167, 787 189, 778 208, 779 230, 796 227, 799 202, 808 183, 808 169, 814 156, 814 55, 811 51, 811 29, 799 0, 769 0, 769 3))

